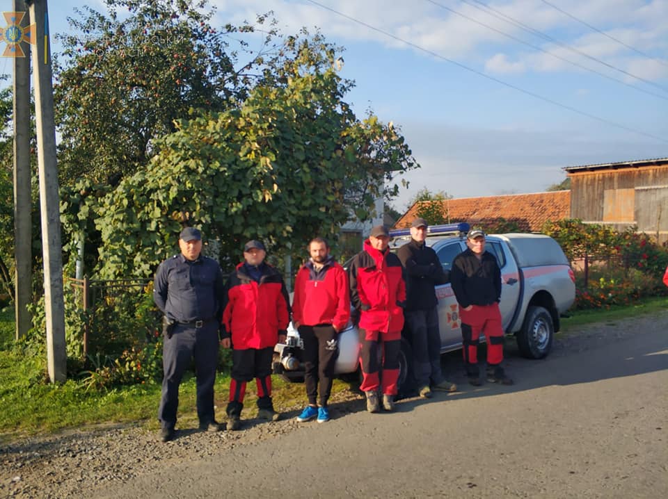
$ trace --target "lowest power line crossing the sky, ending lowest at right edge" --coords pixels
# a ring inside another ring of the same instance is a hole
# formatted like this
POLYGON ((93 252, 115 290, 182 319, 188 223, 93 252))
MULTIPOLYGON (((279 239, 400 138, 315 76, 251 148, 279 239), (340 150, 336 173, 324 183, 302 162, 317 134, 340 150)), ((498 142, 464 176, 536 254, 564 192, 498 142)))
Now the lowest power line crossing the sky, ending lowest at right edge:
POLYGON ((445 60, 446 62, 448 62, 450 64, 456 65, 457 67, 461 67, 461 69, 466 69, 466 71, 468 71, 468 72, 471 72, 473 74, 477 74, 478 76, 482 76, 483 78, 494 81, 495 83, 499 83, 500 85, 504 85, 504 87, 512 88, 513 90, 517 90, 518 92, 522 92, 523 94, 530 95, 531 97, 534 97, 535 99, 540 99, 541 101, 548 102, 548 103, 550 103, 554 106, 559 106, 559 107, 567 109, 568 111, 571 111, 573 113, 577 113, 579 115, 589 117, 592 120, 596 120, 596 121, 599 121, 599 122, 602 122, 602 123, 605 123, 605 124, 609 124, 611 126, 615 126, 615 127, 619 128, 619 129, 623 129, 623 130, 626 130, 626 131, 637 133, 639 135, 646 136, 646 137, 649 137, 649 138, 653 138, 654 140, 659 140, 660 142, 666 142, 668 144, 668 140, 665 139, 665 138, 660 138, 658 136, 652 135, 651 133, 647 133, 647 132, 644 132, 644 131, 633 129, 633 128, 630 128, 629 126, 619 124, 619 123, 615 123, 615 122, 612 122, 610 120, 606 120, 605 118, 589 114, 585 111, 580 111, 577 108, 567 106, 566 104, 562 104, 560 102, 552 100, 549 97, 543 97, 542 95, 531 92, 530 90, 525 90, 524 88, 520 88, 516 85, 513 85, 512 83, 507 83, 506 81, 502 81, 498 78, 495 78, 494 76, 489 76, 488 74, 484 74, 483 72, 480 72, 477 69, 473 69, 472 67, 468 67, 467 65, 458 63, 458 62, 456 62, 456 60, 452 60, 452 59, 449 59, 449 58, 447 58, 445 56, 442 56, 440 54, 436 54, 436 52, 434 52, 434 51, 431 51, 429 49, 425 49, 424 47, 420 47, 420 45, 417 45, 413 42, 408 42, 408 40, 404 40, 403 38, 399 38, 396 35, 392 35, 392 33, 388 33, 387 31, 383 31, 381 28, 376 28, 376 26, 372 26, 371 24, 360 21, 359 19, 356 19, 355 17, 351 17, 347 14, 341 13, 338 10, 335 10, 331 7, 323 5, 322 3, 319 3, 315 0, 306 0, 306 1, 308 1, 309 3, 312 3, 313 5, 319 6, 320 8, 324 8, 325 10, 329 10, 331 13, 334 13, 336 15, 344 17, 345 19, 349 19, 349 21, 360 24, 361 26, 365 26, 366 28, 369 28, 372 31, 376 31, 377 33, 381 33, 382 35, 385 35, 389 38, 392 38, 393 40, 397 40, 398 42, 404 43, 404 44, 408 45, 409 47, 413 47, 414 49, 420 50, 420 51, 424 52, 425 54, 429 54, 430 56, 434 56, 436 58, 445 60))

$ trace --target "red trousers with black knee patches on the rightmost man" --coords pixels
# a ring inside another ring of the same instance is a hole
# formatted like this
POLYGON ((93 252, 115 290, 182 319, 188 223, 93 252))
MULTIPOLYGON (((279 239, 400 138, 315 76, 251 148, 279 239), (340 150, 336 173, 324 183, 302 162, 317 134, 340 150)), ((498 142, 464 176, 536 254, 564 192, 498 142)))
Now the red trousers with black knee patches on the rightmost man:
POLYGON ((459 307, 464 362, 478 362, 478 343, 480 333, 483 332, 487 338, 487 363, 496 366, 503 360, 503 327, 499 304, 472 307, 469 311, 459 307))

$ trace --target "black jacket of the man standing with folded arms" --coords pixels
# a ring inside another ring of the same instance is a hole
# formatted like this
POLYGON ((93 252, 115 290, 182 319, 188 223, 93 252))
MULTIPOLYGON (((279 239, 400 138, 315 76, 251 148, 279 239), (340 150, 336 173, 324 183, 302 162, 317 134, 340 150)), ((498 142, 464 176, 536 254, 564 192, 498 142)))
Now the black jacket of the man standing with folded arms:
POLYGON ((411 238, 397 250, 406 279, 406 311, 429 310, 438 304, 434 286, 445 284, 443 267, 434 249, 411 238))

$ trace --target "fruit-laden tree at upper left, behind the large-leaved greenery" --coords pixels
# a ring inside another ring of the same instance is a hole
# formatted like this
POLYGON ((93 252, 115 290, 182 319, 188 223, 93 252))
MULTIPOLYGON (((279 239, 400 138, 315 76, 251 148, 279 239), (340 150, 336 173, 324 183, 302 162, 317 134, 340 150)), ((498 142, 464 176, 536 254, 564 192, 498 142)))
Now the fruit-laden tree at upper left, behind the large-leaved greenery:
POLYGON ((61 185, 80 177, 116 183, 144 167, 175 120, 243 99, 254 63, 235 69, 237 53, 225 41, 253 28, 212 28, 206 0, 105 3, 106 14, 86 6, 68 19, 75 34, 61 37, 54 65, 61 185))

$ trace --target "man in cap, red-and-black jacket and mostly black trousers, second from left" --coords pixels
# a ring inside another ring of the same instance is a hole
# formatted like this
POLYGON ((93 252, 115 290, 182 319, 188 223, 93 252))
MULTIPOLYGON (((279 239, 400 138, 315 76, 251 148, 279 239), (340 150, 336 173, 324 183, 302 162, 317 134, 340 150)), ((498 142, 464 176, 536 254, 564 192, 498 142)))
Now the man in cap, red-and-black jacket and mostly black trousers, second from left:
POLYGON ((227 407, 228 430, 241 427, 246 383, 257 385, 257 416, 278 420, 271 401, 271 359, 276 343, 285 342, 289 298, 280 272, 264 261, 258 240, 244 245, 244 261, 225 285, 223 347, 232 346, 232 380, 227 407))

